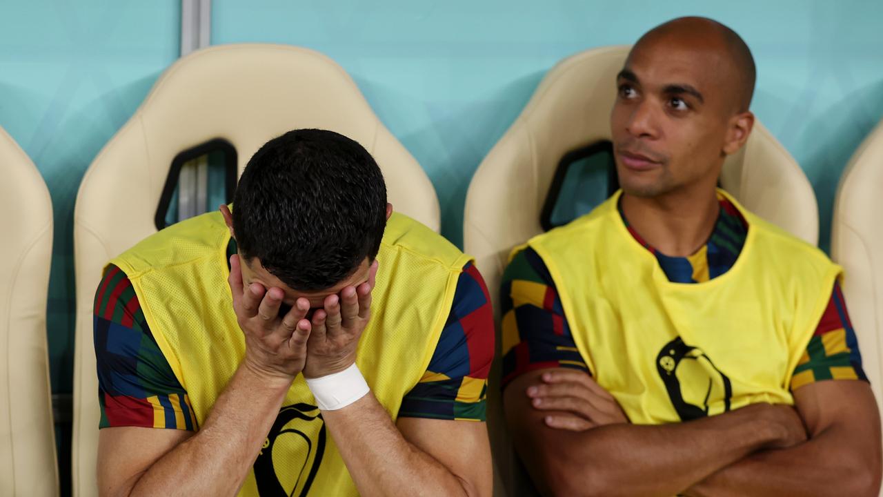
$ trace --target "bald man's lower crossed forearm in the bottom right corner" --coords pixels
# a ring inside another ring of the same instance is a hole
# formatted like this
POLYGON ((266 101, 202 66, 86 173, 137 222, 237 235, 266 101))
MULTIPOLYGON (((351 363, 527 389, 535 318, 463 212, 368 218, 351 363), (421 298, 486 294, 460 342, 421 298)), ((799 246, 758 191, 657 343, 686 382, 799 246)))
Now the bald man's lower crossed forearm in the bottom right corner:
POLYGON ((832 427, 795 447, 749 455, 691 488, 695 497, 729 495, 876 496, 879 459, 865 455, 849 433, 832 427))

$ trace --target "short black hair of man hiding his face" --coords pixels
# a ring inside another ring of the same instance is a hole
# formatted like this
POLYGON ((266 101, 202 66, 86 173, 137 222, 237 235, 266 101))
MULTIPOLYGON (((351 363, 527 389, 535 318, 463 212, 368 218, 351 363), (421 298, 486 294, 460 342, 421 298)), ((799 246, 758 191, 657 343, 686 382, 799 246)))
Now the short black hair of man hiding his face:
POLYGON ((386 184, 374 157, 332 131, 297 129, 268 141, 233 195, 233 230, 289 287, 317 291, 374 260, 386 226, 386 184))

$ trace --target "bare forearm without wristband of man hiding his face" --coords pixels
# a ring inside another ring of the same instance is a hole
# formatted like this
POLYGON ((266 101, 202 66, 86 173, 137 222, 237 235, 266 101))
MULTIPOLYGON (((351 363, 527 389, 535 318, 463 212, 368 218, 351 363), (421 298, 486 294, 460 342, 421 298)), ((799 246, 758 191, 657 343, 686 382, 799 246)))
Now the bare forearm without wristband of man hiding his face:
POLYGON ((200 432, 157 460, 130 495, 236 494, 290 386, 240 364, 200 432))

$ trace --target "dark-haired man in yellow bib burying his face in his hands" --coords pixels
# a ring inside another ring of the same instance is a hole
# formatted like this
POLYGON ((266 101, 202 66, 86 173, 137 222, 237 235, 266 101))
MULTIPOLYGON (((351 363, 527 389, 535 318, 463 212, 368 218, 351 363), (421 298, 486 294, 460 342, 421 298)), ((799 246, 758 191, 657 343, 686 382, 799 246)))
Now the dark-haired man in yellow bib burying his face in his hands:
POLYGON ((105 270, 102 494, 490 495, 471 259, 393 214, 374 158, 329 131, 268 141, 231 210, 105 270))

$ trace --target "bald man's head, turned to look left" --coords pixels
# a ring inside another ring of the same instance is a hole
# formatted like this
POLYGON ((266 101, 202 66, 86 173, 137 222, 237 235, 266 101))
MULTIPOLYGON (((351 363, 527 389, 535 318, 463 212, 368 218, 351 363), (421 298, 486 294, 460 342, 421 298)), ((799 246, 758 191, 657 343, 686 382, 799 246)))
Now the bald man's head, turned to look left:
POLYGON ((675 19, 642 36, 616 77, 610 115, 623 191, 712 192, 751 134, 754 78, 751 51, 719 22, 675 19))

